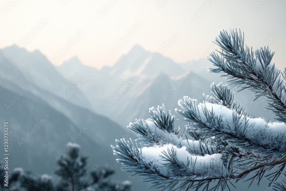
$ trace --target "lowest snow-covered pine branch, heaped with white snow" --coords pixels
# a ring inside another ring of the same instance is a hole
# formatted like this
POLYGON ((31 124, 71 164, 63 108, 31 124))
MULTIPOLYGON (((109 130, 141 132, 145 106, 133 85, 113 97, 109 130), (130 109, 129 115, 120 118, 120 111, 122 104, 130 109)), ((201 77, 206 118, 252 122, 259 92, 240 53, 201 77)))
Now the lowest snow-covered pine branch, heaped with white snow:
POLYGON ((216 179, 219 186, 225 187, 232 172, 227 157, 221 154, 192 155, 186 147, 172 144, 142 148, 131 139, 120 139, 112 148, 123 170, 144 176, 140 181, 148 181, 161 190, 172 190, 175 186, 199 188, 216 179))

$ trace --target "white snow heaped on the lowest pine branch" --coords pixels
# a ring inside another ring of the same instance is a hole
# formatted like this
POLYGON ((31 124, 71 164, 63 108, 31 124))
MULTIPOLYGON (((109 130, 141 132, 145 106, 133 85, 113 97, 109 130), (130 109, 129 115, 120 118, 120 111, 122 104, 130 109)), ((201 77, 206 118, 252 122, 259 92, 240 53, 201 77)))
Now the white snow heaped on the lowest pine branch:
POLYGON ((221 159, 221 154, 195 156, 188 153, 186 147, 178 148, 172 144, 160 147, 143 147, 141 149, 142 160, 145 164, 156 167, 161 175, 172 177, 174 171, 168 166, 171 162, 166 160, 162 154, 164 152, 168 153, 170 150, 173 150, 176 160, 181 163, 181 166, 185 166, 186 169, 184 170, 190 174, 203 177, 225 177, 228 174, 221 159))

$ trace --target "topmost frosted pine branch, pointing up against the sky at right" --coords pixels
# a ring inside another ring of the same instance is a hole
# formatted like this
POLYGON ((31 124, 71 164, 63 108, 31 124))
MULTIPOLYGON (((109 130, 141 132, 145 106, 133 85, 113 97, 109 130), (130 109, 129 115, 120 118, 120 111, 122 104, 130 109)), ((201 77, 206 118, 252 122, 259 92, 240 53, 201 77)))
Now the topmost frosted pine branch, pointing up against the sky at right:
POLYGON ((244 34, 240 29, 230 33, 224 29, 215 39, 221 51, 212 52, 210 60, 217 68, 209 68, 210 72, 221 73, 232 85, 248 88, 260 96, 269 98, 268 109, 271 109, 278 120, 286 122, 286 75, 274 63, 271 63, 274 52, 268 46, 253 51, 244 45, 244 34))

